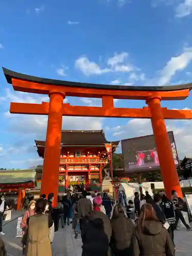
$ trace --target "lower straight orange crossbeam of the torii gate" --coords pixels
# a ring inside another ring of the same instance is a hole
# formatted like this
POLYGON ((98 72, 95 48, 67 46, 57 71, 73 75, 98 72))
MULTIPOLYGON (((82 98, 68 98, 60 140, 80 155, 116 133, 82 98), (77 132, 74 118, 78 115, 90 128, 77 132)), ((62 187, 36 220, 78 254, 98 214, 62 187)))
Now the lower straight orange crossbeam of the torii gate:
MULTIPOLYGON (((167 110, 161 108, 164 119, 192 119, 191 110, 167 110)), ((150 108, 144 106, 143 109, 111 108, 103 106, 71 106, 63 103, 61 112, 63 116, 87 116, 87 117, 121 117, 121 118, 152 118, 150 108)), ((11 102, 10 113, 28 115, 48 115, 49 103, 15 103, 11 102)))

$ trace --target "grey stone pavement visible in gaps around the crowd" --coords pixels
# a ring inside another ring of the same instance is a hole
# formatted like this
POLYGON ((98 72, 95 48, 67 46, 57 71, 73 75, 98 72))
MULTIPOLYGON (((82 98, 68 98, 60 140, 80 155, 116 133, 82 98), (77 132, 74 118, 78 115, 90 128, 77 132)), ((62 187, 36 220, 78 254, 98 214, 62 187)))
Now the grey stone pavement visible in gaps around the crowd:
MULTIPOLYGON (((22 244, 20 238, 15 238, 17 220, 4 225, 3 231, 6 236, 3 240, 6 245, 8 256, 22 256, 22 244)), ((175 231, 176 256, 191 256, 192 231, 179 228, 175 231)), ((72 226, 59 229, 54 236, 52 244, 53 256, 81 256, 80 236, 75 239, 72 226)))

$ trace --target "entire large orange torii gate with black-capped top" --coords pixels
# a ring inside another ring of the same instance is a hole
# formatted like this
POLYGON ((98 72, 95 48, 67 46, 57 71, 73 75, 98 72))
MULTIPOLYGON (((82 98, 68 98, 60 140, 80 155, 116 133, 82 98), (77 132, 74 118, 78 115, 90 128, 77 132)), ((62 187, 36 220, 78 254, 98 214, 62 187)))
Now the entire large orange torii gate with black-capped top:
MULTIPOLYGON (((108 86, 29 76, 3 68, 7 82, 15 91, 47 94, 50 102, 41 104, 11 102, 10 113, 48 115, 47 137, 41 194, 58 191, 62 116, 151 118, 160 169, 168 197, 175 189, 182 198, 181 187, 167 136, 164 119, 192 119, 190 110, 161 108, 161 100, 184 100, 192 83, 166 87, 108 86), (101 98, 102 106, 72 106, 63 103, 66 96, 101 98), (143 109, 115 108, 114 99, 145 100, 143 109)), ((54 206, 57 205, 55 198, 54 206)))

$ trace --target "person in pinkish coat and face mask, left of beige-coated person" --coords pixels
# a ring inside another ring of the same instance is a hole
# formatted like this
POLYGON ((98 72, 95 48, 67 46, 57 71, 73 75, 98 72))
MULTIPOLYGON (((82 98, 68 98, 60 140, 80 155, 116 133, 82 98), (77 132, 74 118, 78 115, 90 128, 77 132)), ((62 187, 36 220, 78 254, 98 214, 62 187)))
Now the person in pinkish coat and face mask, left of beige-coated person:
POLYGON ((22 244, 23 244, 23 255, 25 255, 26 250, 26 244, 27 244, 27 219, 30 216, 33 216, 35 214, 35 201, 31 200, 29 203, 28 210, 25 212, 25 215, 22 218, 22 222, 20 223, 20 228, 23 230, 23 238, 22 238, 22 244))

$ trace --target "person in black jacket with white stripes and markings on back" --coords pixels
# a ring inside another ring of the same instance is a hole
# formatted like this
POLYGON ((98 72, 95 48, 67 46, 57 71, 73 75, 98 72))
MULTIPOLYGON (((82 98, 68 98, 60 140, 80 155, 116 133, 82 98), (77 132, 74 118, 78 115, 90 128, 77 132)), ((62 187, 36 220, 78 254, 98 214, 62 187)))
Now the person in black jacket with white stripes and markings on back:
POLYGON ((164 212, 166 222, 168 222, 169 224, 169 228, 167 230, 174 242, 174 230, 175 230, 175 223, 176 223, 174 204, 165 196, 163 192, 161 192, 160 195, 162 196, 162 202, 160 204, 160 207, 164 212))

